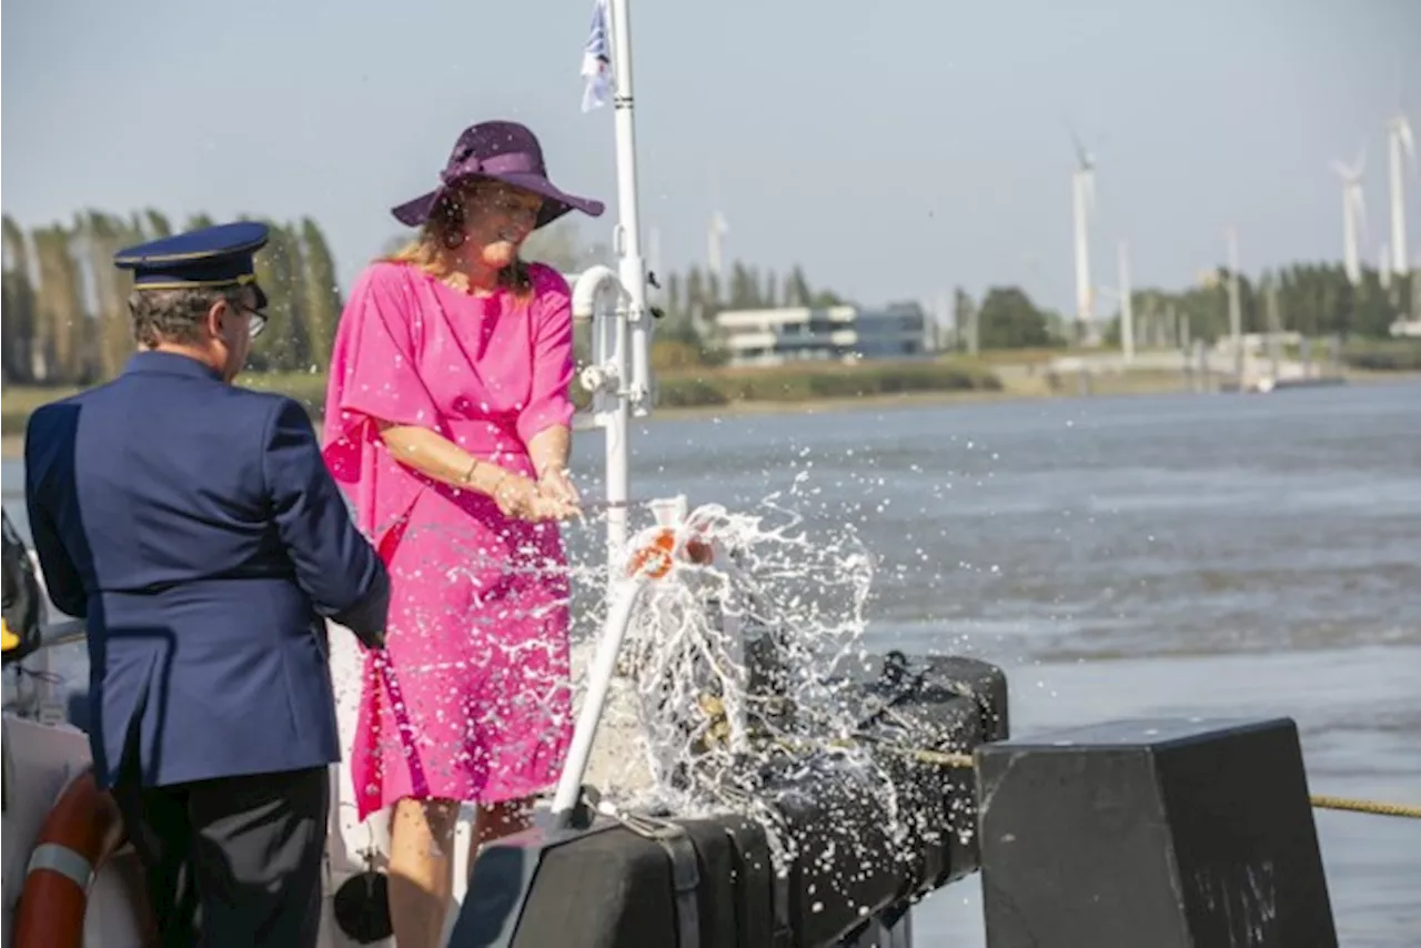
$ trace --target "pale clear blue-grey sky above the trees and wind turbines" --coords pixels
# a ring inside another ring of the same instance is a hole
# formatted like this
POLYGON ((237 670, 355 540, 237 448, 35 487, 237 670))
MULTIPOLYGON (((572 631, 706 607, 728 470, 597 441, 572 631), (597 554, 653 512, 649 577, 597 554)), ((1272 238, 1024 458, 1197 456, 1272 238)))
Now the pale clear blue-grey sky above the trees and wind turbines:
MULTIPOLYGON (((1334 159, 1421 135, 1421 0, 630 0, 644 244, 864 304, 1023 286, 1073 308, 1070 128, 1096 153, 1093 269, 1182 287, 1341 257, 1334 159)), ((458 134, 513 118, 615 220, 612 112, 583 114, 591 0, 0 0, 0 212, 317 219, 348 286, 458 134)), ((1408 175, 1421 259, 1421 178, 1408 175)), ((1104 307, 1103 307, 1104 308, 1104 307)))

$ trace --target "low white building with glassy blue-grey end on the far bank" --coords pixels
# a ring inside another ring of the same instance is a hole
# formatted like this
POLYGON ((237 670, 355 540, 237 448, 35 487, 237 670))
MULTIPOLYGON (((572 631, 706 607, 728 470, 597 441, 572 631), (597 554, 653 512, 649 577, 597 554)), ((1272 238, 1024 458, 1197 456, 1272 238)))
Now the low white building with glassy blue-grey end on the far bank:
POLYGON ((882 310, 725 310, 715 317, 730 365, 797 360, 917 358, 928 352, 928 321, 917 303, 882 310))

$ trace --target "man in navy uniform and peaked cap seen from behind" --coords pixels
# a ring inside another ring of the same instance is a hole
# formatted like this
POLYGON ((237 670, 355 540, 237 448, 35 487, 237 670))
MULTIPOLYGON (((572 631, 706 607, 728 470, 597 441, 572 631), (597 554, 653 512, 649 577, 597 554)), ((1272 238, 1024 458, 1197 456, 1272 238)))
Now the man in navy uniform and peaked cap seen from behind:
POLYGON ((340 759, 323 617, 379 648, 389 605, 306 412, 230 384, 266 242, 243 222, 118 253, 139 351, 26 432, 50 597, 88 625, 95 776, 171 948, 315 945, 340 759))

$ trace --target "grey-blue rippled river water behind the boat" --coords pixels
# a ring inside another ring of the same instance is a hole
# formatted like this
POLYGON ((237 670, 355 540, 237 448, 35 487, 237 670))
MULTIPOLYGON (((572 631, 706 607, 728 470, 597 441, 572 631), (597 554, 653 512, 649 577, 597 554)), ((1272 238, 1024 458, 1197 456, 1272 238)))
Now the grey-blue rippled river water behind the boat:
MULTIPOLYGON (((1421 803, 1421 385, 657 421, 634 452, 637 496, 854 524, 874 644, 1005 667, 1015 735, 1287 715, 1312 792, 1421 803)), ((1317 826, 1341 944, 1421 945, 1421 823, 1317 826)), ((980 948, 978 880, 915 921, 980 948)))

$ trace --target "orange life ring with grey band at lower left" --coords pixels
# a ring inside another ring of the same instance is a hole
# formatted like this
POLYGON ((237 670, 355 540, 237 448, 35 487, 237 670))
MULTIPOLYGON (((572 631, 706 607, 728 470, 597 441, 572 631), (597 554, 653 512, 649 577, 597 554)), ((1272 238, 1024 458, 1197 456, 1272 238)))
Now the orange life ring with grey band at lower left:
MULTIPOLYGON (((81 948, 90 887, 124 839, 118 804, 85 769, 40 827, 20 890, 14 948, 81 948)), ((142 922, 152 931, 148 918, 142 922)))

